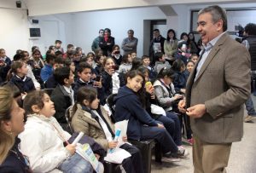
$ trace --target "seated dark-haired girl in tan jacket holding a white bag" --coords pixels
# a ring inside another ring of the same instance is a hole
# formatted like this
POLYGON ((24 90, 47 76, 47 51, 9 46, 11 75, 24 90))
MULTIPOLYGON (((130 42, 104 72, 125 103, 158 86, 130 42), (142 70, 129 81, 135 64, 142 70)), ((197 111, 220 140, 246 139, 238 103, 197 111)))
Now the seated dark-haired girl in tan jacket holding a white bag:
MULTIPOLYGON (((85 135, 91 136, 106 151, 115 148, 118 141, 113 141, 113 122, 104 107, 99 106, 96 89, 90 87, 80 88, 77 94, 77 103, 73 107, 72 127, 74 131, 83 131, 85 135)), ((123 137, 123 142, 127 137, 123 137)), ((122 164, 126 172, 143 173, 142 156, 137 149, 130 144, 119 145, 131 153, 131 158, 124 159, 122 164)))

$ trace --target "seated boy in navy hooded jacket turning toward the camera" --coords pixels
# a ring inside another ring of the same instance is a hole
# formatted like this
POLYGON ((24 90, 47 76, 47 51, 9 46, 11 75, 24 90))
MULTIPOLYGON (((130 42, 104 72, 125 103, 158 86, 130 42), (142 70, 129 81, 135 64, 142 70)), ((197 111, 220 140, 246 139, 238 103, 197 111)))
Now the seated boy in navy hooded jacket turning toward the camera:
POLYGON ((172 136, 163 124, 150 117, 144 105, 144 76, 142 72, 132 70, 126 74, 126 85, 119 89, 114 98, 116 122, 129 119, 127 137, 131 140, 155 139, 160 142, 163 153, 172 153, 175 157, 184 157, 185 149, 177 147, 172 136))

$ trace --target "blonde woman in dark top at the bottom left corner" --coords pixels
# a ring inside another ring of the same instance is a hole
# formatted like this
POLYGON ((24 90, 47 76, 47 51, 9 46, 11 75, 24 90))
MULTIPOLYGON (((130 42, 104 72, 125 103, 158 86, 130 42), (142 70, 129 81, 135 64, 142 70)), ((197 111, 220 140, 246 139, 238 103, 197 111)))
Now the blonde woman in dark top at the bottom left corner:
POLYGON ((17 136, 24 130, 24 113, 11 91, 0 88, 0 172, 32 172, 28 159, 18 148, 17 136))

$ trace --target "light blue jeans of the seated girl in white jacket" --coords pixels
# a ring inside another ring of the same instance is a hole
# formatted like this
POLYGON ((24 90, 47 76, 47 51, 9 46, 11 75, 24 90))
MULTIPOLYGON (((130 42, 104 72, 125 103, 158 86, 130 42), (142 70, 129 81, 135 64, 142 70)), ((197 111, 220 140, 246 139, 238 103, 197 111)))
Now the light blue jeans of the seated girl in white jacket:
POLYGON ((69 159, 64 160, 58 169, 65 173, 93 172, 90 162, 82 158, 78 153, 74 153, 69 159))

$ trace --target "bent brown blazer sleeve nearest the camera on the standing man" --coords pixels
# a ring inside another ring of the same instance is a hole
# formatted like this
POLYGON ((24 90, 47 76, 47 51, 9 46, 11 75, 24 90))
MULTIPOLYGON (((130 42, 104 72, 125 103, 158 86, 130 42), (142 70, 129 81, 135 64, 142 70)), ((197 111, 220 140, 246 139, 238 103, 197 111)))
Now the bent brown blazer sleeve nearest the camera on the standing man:
POLYGON ((231 50, 224 62, 224 80, 229 87, 221 95, 205 102, 212 118, 240 106, 250 95, 250 55, 241 46, 234 46, 231 50))

